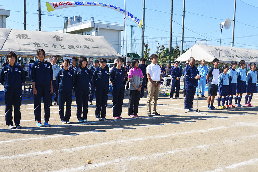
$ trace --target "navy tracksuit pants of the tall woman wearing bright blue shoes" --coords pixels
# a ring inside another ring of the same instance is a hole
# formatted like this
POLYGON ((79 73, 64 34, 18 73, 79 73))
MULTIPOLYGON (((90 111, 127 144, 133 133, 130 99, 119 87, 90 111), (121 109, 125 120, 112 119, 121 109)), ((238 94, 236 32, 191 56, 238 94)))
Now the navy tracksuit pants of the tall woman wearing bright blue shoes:
POLYGON ((45 121, 49 121, 50 117, 50 86, 36 85, 37 95, 33 94, 34 99, 34 115, 36 121, 41 121, 41 97, 43 97, 45 121))

